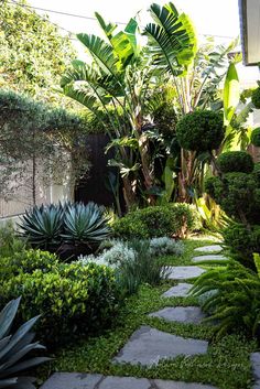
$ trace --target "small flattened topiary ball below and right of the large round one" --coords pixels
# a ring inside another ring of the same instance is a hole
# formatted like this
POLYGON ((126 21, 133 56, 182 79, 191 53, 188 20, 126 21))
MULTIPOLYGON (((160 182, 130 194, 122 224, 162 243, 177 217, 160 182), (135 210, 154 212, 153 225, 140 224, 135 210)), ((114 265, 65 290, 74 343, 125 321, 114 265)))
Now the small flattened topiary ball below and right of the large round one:
POLYGON ((225 152, 218 156, 217 165, 221 173, 251 173, 254 168, 251 155, 246 151, 225 152))

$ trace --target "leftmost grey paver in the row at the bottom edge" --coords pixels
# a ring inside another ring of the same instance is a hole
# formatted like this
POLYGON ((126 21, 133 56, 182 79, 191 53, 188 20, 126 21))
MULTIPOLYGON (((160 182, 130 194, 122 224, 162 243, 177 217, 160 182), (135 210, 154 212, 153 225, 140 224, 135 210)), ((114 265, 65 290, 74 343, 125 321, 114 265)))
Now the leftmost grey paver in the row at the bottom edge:
POLYGON ((55 372, 41 389, 94 389, 101 378, 101 375, 55 372))

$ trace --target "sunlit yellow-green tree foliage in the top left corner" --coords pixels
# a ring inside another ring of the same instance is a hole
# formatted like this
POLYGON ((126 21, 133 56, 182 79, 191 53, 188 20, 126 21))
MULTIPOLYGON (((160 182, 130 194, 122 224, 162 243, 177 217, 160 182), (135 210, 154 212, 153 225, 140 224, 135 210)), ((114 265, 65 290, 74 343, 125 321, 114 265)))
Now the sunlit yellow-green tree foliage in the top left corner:
POLYGON ((25 6, 1 1, 0 87, 61 102, 54 86, 75 52, 57 26, 25 6))

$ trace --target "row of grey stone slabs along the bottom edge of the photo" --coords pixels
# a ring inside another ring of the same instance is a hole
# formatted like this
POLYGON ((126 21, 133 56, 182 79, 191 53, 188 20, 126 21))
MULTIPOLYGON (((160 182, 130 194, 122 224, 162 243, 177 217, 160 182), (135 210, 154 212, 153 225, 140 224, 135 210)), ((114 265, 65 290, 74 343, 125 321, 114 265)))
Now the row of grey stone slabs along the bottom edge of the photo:
POLYGON ((77 372, 55 372, 41 389, 217 389, 202 383, 151 380, 134 377, 105 377, 77 372))

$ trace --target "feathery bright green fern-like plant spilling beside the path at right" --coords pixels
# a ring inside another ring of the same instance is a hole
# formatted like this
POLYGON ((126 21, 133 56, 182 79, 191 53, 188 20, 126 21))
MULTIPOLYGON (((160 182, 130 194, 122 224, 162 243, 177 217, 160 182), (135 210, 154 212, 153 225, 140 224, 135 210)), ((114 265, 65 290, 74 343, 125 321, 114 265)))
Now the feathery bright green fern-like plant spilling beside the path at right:
POLYGON ((256 272, 230 261, 227 268, 201 275, 192 293, 203 298, 203 310, 209 314, 206 321, 215 324, 218 336, 240 331, 260 335, 260 279, 256 272))

